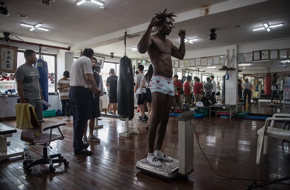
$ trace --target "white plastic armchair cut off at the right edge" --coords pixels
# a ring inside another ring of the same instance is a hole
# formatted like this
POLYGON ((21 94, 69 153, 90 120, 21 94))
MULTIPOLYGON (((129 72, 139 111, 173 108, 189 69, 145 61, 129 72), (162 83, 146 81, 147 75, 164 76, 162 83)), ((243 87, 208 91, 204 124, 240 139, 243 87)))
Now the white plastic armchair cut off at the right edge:
MULTIPOLYGON (((263 154, 267 154, 268 152, 269 137, 285 139, 285 140, 290 141, 290 131, 273 127, 274 121, 290 121, 290 114, 274 114, 272 117, 267 118, 265 121, 265 126, 258 130, 259 137, 258 137, 257 156, 256 156, 257 164, 260 163, 260 155, 261 155, 264 136, 265 136, 265 140, 264 140, 264 153, 263 154), (268 126, 269 121, 271 121, 270 126, 268 126)), ((281 125, 283 124, 281 123, 281 125)))

